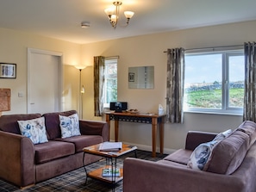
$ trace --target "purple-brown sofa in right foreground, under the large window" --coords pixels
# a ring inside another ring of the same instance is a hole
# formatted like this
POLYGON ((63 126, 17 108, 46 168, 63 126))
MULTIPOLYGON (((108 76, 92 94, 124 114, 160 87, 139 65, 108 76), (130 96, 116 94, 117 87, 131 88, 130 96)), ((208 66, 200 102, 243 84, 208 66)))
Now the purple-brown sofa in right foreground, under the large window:
POLYGON ((184 149, 157 162, 126 158, 123 191, 255 192, 255 129, 255 122, 244 121, 214 146, 213 141, 220 134, 190 131, 184 149), (204 152, 197 153, 202 146, 204 152), (204 157, 206 153, 208 158, 204 157), (198 166, 193 167, 190 163, 195 154, 199 155, 198 166))

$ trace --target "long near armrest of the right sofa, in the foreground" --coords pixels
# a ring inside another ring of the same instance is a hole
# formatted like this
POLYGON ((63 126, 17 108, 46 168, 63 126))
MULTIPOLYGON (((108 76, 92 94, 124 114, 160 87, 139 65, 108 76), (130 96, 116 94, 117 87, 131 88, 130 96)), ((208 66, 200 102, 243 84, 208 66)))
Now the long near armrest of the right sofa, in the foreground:
POLYGON ((190 170, 138 158, 126 158, 123 164, 124 192, 244 192, 246 184, 240 177, 190 170))

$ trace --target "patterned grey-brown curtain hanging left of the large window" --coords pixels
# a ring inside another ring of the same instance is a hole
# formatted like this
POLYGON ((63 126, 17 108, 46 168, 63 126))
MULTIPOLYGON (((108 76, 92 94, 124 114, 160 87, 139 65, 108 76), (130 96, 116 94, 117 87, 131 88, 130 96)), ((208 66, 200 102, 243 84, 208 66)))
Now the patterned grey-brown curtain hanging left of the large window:
POLYGON ((171 123, 183 123, 184 48, 167 50, 166 115, 171 123))

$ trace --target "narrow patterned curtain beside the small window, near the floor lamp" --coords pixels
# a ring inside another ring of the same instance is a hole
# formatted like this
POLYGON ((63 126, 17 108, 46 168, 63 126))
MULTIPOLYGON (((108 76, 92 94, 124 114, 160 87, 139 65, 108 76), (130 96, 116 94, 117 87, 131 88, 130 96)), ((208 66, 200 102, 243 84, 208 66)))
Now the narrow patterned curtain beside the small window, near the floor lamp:
POLYGON ((103 56, 94 57, 94 115, 103 115, 104 96, 104 63, 103 56))

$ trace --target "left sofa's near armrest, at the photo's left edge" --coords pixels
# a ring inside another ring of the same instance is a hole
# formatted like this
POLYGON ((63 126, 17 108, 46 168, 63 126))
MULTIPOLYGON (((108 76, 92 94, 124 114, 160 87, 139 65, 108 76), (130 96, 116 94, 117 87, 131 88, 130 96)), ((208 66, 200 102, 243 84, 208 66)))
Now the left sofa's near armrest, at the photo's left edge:
POLYGON ((35 183, 34 144, 16 133, 0 131, 0 177, 25 187, 35 183))

